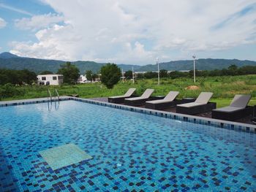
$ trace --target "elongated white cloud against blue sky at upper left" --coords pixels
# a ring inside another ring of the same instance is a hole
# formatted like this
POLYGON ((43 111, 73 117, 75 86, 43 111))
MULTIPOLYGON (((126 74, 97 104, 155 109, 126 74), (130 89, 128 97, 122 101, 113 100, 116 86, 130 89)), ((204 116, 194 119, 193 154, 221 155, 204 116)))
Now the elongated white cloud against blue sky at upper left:
POLYGON ((35 15, 31 18, 22 18, 15 20, 15 26, 23 30, 33 30, 37 31, 41 28, 48 28, 56 23, 63 21, 64 18, 56 14, 45 14, 45 15, 35 15))

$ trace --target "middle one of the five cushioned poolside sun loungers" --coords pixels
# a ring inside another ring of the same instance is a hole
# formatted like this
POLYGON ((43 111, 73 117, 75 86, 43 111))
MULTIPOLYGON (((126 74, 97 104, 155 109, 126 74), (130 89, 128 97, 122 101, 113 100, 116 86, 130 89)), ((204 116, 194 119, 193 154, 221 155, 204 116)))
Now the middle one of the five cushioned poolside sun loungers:
POLYGON ((152 110, 163 110, 168 107, 176 106, 175 99, 178 96, 178 91, 170 91, 164 99, 154 101, 146 101, 145 108, 152 110))

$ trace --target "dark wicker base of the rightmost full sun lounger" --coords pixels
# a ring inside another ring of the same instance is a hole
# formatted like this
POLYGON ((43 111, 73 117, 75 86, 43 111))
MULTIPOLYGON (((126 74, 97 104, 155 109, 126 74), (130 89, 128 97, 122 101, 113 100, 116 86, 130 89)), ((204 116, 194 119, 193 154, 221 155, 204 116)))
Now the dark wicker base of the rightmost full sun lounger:
POLYGON ((253 113, 252 106, 246 106, 246 108, 242 110, 236 110, 233 112, 222 112, 222 111, 213 110, 211 112, 211 118, 221 119, 221 120, 238 120, 241 118, 245 118, 249 115, 252 115, 252 113, 253 113))

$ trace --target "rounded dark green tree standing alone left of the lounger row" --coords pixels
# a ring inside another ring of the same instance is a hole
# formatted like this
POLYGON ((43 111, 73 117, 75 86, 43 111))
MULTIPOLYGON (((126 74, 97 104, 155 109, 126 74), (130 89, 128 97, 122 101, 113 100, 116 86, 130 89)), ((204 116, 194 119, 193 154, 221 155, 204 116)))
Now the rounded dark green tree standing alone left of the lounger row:
POLYGON ((107 88, 113 88, 120 80, 121 70, 116 64, 106 64, 100 69, 101 81, 107 88))

